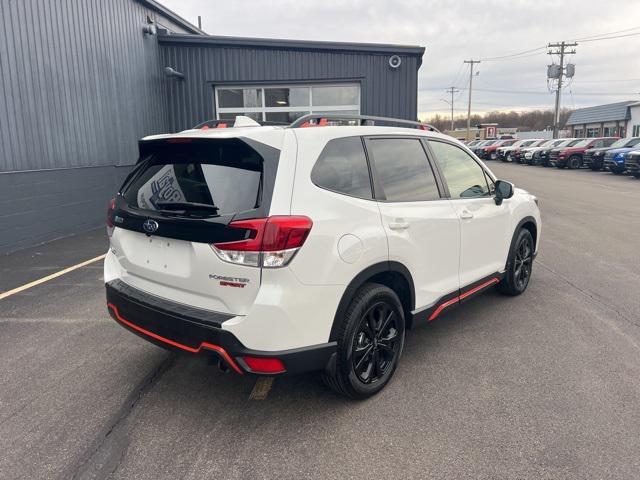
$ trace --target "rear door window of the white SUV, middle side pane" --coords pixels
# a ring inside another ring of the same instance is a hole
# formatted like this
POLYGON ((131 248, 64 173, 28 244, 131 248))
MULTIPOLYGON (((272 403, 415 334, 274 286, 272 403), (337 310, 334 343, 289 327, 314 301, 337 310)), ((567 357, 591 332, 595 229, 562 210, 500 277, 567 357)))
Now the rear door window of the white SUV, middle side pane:
POLYGON ((376 172, 387 200, 411 202, 440 198, 427 155, 418 139, 371 139, 376 172))

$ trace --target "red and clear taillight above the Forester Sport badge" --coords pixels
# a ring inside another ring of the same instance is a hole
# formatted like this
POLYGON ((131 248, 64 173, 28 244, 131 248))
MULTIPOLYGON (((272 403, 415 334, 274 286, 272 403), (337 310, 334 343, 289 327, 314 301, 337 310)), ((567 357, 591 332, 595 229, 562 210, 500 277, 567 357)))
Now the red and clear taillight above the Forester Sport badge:
POLYGON ((211 245, 218 257, 251 267, 279 268, 287 265, 302 247, 313 222, 304 216, 273 216, 238 220, 230 228, 246 230, 245 238, 211 245))

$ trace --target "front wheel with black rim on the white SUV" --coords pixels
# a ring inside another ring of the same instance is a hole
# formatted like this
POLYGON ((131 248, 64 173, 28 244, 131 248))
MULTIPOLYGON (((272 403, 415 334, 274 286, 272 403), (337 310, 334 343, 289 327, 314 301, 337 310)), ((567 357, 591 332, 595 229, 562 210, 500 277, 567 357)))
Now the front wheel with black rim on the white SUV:
POLYGON ((498 284, 500 293, 516 296, 527 289, 533 268, 533 252, 533 237, 529 230, 521 228, 511 244, 505 276, 498 284))

